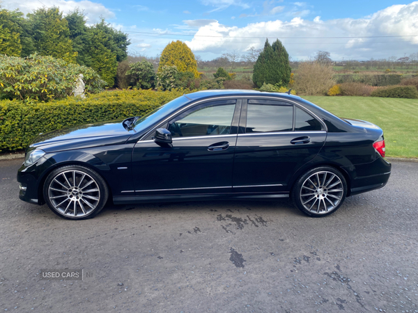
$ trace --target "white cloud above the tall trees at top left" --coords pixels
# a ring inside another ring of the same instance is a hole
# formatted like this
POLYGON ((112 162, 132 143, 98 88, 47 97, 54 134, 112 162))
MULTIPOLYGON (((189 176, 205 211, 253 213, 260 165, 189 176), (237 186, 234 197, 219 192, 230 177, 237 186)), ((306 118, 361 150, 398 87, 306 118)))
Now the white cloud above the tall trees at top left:
POLYGON ((84 10, 84 14, 88 19, 88 24, 100 22, 100 17, 105 19, 111 19, 115 17, 115 14, 102 5, 102 3, 95 3, 88 0, 83 1, 65 1, 65 0, 42 0, 42 3, 35 0, 3 0, 1 6, 8 10, 19 9, 23 13, 32 13, 33 10, 42 8, 43 6, 50 8, 57 6, 64 14, 69 13, 76 8, 84 10))

